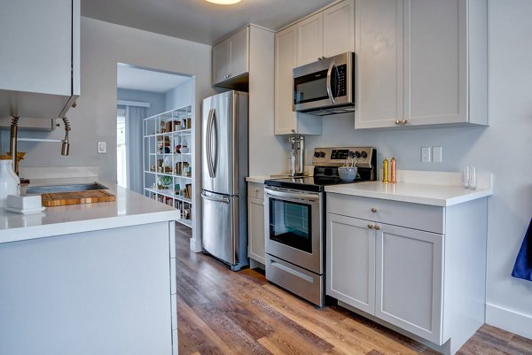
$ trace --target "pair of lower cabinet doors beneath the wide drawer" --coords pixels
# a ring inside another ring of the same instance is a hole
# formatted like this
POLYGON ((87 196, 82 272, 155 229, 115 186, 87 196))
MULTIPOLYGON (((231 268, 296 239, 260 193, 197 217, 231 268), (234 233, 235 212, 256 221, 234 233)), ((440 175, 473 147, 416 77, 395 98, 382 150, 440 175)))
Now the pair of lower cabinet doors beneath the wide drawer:
POLYGON ((440 343, 442 240, 328 213, 327 295, 440 343))

